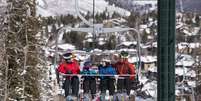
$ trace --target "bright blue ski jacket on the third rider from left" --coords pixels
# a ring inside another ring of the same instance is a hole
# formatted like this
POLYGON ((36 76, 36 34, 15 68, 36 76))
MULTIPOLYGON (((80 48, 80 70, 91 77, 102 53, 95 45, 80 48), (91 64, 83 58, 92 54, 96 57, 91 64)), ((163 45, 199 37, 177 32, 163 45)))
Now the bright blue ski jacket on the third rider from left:
MULTIPOLYGON (((116 70, 112 65, 105 66, 105 67, 99 67, 99 74, 111 74, 116 75, 116 70)), ((101 79, 104 79, 105 77, 101 77, 101 79)))

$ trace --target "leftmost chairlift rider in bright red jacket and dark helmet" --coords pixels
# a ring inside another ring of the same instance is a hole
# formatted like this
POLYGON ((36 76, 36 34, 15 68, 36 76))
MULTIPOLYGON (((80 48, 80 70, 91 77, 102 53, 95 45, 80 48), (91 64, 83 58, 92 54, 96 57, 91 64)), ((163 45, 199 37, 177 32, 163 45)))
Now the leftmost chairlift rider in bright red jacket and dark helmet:
MULTIPOLYGON (((65 60, 62 62, 58 67, 58 72, 64 74, 79 74, 80 67, 78 63, 73 61, 72 53, 66 53, 63 55, 63 59, 65 60)), ((72 95, 78 96, 79 91, 79 78, 78 76, 67 76, 65 78, 63 89, 65 90, 65 96, 69 95, 69 88, 72 87, 72 95)))

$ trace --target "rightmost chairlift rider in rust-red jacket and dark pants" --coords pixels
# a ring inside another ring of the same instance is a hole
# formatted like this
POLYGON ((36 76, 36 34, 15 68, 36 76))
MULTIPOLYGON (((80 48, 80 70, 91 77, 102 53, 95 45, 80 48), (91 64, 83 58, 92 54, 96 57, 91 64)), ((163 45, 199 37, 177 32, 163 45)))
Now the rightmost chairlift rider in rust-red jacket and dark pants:
POLYGON ((120 60, 114 64, 116 72, 119 76, 117 81, 117 90, 123 92, 124 90, 129 95, 131 90, 131 81, 134 80, 135 76, 121 76, 121 75, 135 75, 135 66, 128 62, 129 54, 125 51, 120 53, 120 60))

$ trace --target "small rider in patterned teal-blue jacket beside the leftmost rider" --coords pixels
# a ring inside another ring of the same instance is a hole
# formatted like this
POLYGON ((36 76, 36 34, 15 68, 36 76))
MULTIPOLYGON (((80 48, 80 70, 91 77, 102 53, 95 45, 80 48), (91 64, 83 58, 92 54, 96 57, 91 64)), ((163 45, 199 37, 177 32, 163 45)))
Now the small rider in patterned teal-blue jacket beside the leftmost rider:
MULTIPOLYGON (((90 61, 84 63, 82 74, 84 75, 95 75, 96 71, 92 68, 90 61)), ((96 78, 92 76, 85 76, 83 81, 84 94, 89 94, 91 91, 92 99, 96 96, 96 78)))

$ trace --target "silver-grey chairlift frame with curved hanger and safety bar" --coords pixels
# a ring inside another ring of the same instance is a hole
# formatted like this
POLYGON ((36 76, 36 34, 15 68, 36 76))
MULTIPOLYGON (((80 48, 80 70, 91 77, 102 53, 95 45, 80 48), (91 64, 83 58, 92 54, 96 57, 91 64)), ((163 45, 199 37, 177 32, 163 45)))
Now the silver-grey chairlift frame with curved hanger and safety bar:
MULTIPOLYGON (((95 40, 96 36, 99 34, 103 33, 114 33, 114 32, 126 32, 126 31, 132 31, 137 34, 137 57, 138 57, 138 65, 137 65, 137 77, 141 78, 141 49, 140 49, 140 33, 138 30, 135 28, 104 28, 103 24, 95 24, 94 23, 94 18, 93 18, 93 23, 87 21, 79 12, 79 7, 78 7, 78 0, 75 0, 75 9, 76 9, 76 14, 78 17, 89 27, 79 27, 79 28, 72 28, 68 26, 63 26, 59 29, 58 35, 62 33, 64 30, 68 29, 71 31, 77 31, 77 32, 86 32, 86 33, 92 33, 93 38, 95 40)), ((95 0, 93 0, 93 15, 94 15, 94 10, 95 9, 95 0)), ((57 36, 58 36, 57 35, 57 36)), ((56 44, 56 50, 55 50, 55 69, 56 69, 56 64, 57 64, 57 56, 58 56, 58 37, 56 38, 55 41, 56 44)), ((100 52, 101 53, 101 52, 100 52)), ((87 53, 87 54, 93 54, 93 53, 87 53)), ((58 77, 60 76, 73 76, 72 74, 57 74, 58 77)), ((80 76, 114 76, 114 75, 77 75, 78 77, 80 76)), ((121 76, 132 76, 132 75, 121 75, 121 76)), ((118 75, 115 77, 118 78, 118 75)), ((58 78, 59 79, 59 78, 58 78)))

